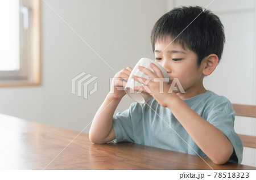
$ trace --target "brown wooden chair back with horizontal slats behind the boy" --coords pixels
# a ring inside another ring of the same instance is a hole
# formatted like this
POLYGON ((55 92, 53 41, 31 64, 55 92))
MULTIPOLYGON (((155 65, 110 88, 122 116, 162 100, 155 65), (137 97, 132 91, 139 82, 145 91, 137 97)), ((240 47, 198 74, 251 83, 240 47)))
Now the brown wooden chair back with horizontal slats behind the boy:
MULTIPOLYGON (((232 104, 236 115, 243 117, 256 118, 256 106, 255 105, 242 105, 232 104)), ((256 121, 256 119, 255 119, 256 121)), ((238 134, 242 139, 243 146, 249 148, 256 148, 256 136, 238 134)))

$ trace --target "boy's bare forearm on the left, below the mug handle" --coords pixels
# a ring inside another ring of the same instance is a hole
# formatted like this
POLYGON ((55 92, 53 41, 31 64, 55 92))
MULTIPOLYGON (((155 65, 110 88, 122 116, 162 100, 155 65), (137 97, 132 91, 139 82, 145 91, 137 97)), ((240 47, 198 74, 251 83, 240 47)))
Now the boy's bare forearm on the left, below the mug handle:
POLYGON ((102 144, 115 139, 113 128, 113 115, 121 99, 117 100, 108 94, 94 115, 89 131, 89 139, 92 143, 102 144))

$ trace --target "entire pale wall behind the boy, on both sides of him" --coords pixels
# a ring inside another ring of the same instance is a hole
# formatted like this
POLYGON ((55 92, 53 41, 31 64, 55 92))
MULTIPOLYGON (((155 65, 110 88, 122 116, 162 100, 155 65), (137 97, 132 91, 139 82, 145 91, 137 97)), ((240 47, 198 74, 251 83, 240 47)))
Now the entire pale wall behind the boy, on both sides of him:
MULTIPOLYGON (((44 1, 114 70, 42 2, 42 85, 0 88, 0 113, 77 131, 92 121, 109 91, 109 78, 139 58, 153 58, 150 31, 160 16, 174 6, 206 7, 211 2, 44 1), (98 76, 98 91, 87 100, 71 93, 72 78, 83 71, 98 76)), ((224 23, 227 41, 222 62, 205 79, 205 87, 241 104, 256 104, 254 6, 253 0, 216 0, 208 7, 224 23)), ((126 95, 116 112, 131 102, 126 95)), ((239 118, 236 130, 256 134, 255 124, 239 118)), ((242 163, 256 166, 255 161, 255 152, 245 149, 242 163)))

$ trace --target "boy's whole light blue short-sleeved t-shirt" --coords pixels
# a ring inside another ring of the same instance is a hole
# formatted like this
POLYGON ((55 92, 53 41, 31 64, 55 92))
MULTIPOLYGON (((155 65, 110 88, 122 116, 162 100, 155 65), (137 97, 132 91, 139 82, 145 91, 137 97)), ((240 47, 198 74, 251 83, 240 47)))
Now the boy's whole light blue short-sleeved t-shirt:
MULTIPOLYGON (((226 135, 234 148, 229 162, 241 163, 243 144, 234 131, 235 112, 230 101, 207 90, 184 102, 226 135)), ((147 104, 133 102, 129 109, 114 114, 113 128, 116 143, 132 142, 207 157, 170 109, 161 106, 155 98, 151 98, 147 104)))

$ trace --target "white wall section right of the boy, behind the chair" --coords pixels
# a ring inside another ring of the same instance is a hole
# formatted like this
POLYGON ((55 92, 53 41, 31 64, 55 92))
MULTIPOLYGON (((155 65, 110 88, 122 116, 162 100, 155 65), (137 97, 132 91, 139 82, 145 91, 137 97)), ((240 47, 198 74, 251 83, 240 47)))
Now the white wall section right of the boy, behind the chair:
MULTIPOLYGON (((169 8, 177 6, 207 7, 209 1, 168 1, 169 8)), ((218 15, 224 24, 226 44, 220 64, 204 80, 206 89, 227 97, 232 103, 256 105, 256 13, 255 2, 213 1, 208 9, 218 15)), ((236 117, 235 130, 241 134, 256 135, 252 118, 236 117)), ((256 166, 256 151, 244 148, 242 164, 256 166)))

